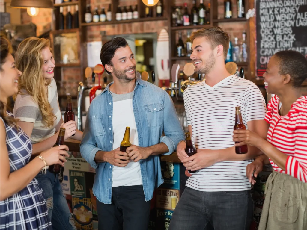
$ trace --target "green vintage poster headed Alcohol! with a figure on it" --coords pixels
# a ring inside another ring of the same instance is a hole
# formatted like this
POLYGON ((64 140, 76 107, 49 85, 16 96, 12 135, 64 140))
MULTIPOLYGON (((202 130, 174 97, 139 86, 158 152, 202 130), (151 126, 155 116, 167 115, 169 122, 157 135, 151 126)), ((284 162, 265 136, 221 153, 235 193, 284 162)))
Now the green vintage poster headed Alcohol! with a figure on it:
POLYGON ((85 172, 69 170, 70 191, 72 196, 86 197, 85 172))

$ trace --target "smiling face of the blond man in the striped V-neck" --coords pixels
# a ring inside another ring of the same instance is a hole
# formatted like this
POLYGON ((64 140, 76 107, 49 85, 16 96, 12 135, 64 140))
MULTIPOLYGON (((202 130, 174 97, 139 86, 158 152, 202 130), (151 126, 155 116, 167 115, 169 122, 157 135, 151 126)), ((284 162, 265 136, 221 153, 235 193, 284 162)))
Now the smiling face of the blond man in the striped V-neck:
POLYGON ((190 58, 194 62, 195 72, 208 74, 216 63, 216 57, 210 42, 205 37, 196 37, 193 40, 192 50, 190 58))

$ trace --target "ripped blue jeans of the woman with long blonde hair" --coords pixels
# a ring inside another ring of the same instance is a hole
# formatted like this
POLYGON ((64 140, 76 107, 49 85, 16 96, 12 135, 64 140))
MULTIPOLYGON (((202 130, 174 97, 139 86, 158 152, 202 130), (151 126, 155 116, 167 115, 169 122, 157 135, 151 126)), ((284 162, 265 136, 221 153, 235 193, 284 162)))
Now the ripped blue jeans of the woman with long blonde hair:
POLYGON ((72 213, 70 213, 57 176, 58 174, 47 170, 46 174, 40 172, 35 178, 43 189, 53 230, 76 230, 72 213))

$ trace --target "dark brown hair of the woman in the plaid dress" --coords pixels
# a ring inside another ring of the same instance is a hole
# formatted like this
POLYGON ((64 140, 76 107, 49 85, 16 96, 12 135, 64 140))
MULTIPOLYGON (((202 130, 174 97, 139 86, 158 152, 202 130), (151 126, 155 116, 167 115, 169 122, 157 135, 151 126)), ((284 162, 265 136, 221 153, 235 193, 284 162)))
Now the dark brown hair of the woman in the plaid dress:
MULTIPOLYGON (((6 58, 9 55, 10 44, 8 40, 3 37, 0 37, 0 72, 3 71, 2 65, 6 62, 6 58)), ((14 125, 17 127, 17 120, 14 117, 6 116, 7 105, 4 102, 0 101, 0 117, 5 121, 8 125, 14 125)))

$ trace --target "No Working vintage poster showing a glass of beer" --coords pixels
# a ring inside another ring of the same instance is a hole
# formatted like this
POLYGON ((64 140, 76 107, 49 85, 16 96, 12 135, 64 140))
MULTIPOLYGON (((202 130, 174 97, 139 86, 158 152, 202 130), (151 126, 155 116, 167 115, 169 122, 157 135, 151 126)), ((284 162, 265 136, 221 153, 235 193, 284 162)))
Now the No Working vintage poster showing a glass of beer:
POLYGON ((174 210, 179 201, 179 190, 156 189, 156 207, 174 210))

